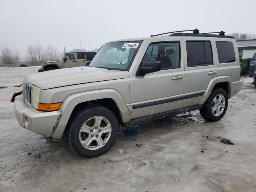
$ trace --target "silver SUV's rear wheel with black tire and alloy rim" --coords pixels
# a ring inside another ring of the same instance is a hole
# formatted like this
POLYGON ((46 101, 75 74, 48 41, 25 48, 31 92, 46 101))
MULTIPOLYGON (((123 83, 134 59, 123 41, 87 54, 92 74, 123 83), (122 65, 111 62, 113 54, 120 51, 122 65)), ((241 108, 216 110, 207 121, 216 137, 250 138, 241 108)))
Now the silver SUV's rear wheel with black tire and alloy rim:
POLYGON ((222 119, 228 108, 228 94, 222 88, 212 90, 209 98, 200 109, 201 116, 208 121, 222 119))

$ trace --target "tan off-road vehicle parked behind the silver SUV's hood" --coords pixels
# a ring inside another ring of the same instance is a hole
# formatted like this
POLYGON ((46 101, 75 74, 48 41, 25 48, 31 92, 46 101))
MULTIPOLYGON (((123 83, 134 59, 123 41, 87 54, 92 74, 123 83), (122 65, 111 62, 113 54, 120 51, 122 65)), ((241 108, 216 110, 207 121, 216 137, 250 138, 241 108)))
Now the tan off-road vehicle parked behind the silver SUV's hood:
POLYGON ((71 52, 61 54, 56 61, 45 61, 42 63, 38 72, 49 71, 60 68, 70 68, 86 66, 94 56, 96 52, 71 52))

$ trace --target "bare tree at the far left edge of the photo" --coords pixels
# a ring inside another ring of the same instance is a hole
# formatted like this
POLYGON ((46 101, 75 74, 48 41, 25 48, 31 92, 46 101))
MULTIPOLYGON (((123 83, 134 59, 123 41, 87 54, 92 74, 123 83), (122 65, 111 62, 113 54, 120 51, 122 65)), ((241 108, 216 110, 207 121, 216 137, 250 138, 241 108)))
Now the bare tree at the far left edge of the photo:
POLYGON ((18 50, 14 51, 8 47, 2 49, 1 52, 1 61, 2 64, 18 64, 20 58, 20 53, 18 50))

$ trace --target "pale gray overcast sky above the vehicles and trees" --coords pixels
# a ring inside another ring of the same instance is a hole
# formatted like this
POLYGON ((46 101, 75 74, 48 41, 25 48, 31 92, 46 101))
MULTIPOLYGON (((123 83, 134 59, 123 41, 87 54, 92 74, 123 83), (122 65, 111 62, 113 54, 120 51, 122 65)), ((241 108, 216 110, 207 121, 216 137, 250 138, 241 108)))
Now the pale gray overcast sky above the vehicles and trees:
POLYGON ((0 49, 40 41, 63 50, 198 28, 256 34, 256 0, 0 0, 0 49))

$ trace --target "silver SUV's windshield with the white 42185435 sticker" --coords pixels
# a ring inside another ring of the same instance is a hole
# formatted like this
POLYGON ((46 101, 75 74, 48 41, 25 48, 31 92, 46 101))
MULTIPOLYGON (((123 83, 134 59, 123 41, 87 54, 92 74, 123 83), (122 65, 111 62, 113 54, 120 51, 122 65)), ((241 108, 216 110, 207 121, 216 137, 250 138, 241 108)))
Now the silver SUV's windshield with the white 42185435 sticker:
POLYGON ((90 62, 90 67, 129 70, 142 41, 107 43, 90 62))

